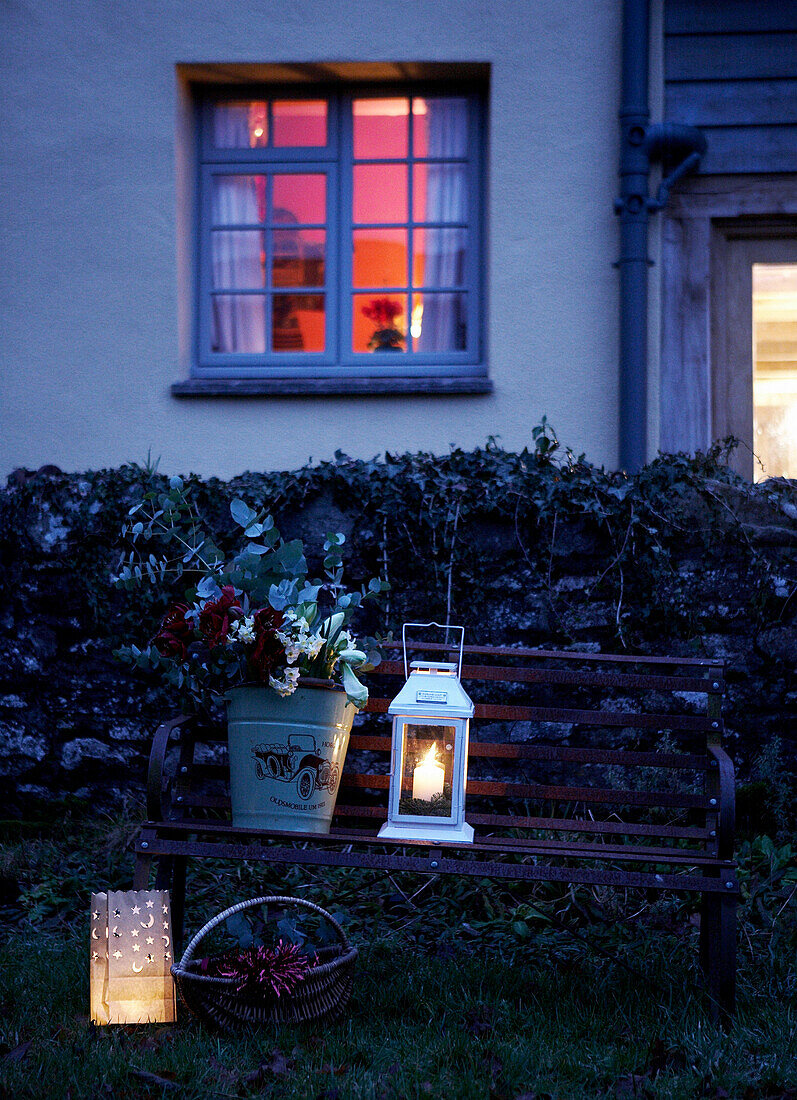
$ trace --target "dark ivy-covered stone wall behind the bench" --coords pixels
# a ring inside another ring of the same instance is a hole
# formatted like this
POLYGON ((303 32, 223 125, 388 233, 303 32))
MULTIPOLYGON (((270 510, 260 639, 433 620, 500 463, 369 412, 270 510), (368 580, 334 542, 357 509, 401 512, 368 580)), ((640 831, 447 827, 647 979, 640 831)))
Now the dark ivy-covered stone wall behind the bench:
MULTIPOLYGON (((131 596, 109 576, 121 521, 153 476, 45 468, 16 471, 0 493, 7 813, 38 798, 104 805, 143 790, 152 732, 176 701, 112 649, 123 638, 146 641, 165 597, 148 587, 131 596)), ((794 754, 790 483, 746 486, 721 468, 683 461, 629 481, 572 459, 557 466, 488 448, 445 461, 339 457, 195 487, 219 528, 240 494, 272 503, 284 532, 309 544, 343 530, 352 580, 387 573, 391 582, 364 629, 450 612, 472 642, 722 658, 728 744, 742 774, 774 738, 794 754)))

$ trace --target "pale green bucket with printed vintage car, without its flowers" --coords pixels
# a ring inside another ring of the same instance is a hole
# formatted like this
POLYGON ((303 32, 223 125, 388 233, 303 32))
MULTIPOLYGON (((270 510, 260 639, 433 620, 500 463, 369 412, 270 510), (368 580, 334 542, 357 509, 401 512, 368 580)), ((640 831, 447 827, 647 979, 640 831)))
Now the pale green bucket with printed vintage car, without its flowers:
POLYGON ((281 696, 247 685, 226 701, 233 825, 329 833, 356 714, 343 689, 305 680, 281 696))

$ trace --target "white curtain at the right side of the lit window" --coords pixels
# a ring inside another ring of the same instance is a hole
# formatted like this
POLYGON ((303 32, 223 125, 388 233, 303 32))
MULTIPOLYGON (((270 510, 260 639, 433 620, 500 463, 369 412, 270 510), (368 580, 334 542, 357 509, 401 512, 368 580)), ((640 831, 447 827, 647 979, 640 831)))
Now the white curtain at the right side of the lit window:
MULTIPOLYGON (((467 150, 467 103, 464 99, 427 100, 428 155, 463 156, 467 150)), ((464 164, 427 165, 427 221, 467 220, 467 174, 464 164)), ((454 286, 462 280, 464 230, 427 229, 423 283, 454 286)), ((455 351, 464 346, 465 298, 458 294, 424 294, 418 351, 455 351)))

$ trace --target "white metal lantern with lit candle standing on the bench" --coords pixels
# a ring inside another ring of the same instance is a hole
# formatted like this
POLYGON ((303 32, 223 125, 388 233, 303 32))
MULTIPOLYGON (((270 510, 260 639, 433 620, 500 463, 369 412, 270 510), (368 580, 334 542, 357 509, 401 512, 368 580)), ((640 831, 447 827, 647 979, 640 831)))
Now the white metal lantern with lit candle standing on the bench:
MULTIPOLYGON (((405 674, 407 674, 405 625, 405 674)), ((465 822, 468 724, 474 705, 460 683, 460 661, 412 661, 407 682, 392 701, 390 793, 379 836, 392 840, 473 842, 465 822)))

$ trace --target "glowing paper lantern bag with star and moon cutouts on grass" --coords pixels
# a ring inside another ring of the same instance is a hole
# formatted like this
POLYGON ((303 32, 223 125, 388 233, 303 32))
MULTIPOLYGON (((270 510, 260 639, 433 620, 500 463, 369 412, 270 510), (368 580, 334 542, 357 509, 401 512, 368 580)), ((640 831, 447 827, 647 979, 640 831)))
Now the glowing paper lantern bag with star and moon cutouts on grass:
POLYGON ((91 894, 90 997, 96 1024, 173 1023, 168 890, 91 894))

